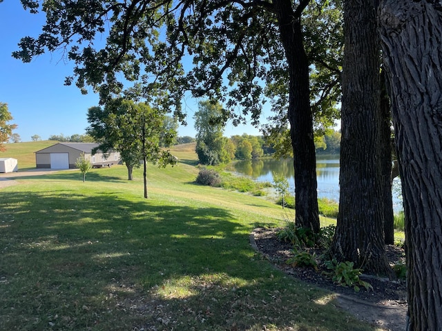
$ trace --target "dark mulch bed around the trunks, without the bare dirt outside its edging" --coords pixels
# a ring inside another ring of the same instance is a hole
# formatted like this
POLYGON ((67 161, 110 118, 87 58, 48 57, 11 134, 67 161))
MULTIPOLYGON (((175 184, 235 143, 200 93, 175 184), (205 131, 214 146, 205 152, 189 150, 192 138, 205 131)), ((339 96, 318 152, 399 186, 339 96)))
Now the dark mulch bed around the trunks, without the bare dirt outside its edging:
MULTIPOLYGON (((290 243, 280 241, 280 239, 276 237, 277 231, 277 229, 257 228, 253 230, 251 239, 254 239, 258 251, 280 270, 285 271, 297 279, 316 285, 319 288, 325 288, 356 301, 363 301, 374 305, 406 307, 407 290, 405 281, 392 281, 390 279, 363 275, 361 279, 370 283, 373 290, 367 291, 365 288, 361 288, 359 292, 355 292, 353 288, 343 287, 333 283, 331 279, 324 275, 324 272, 329 270, 327 270, 325 266, 320 265, 320 263, 318 263, 318 270, 287 265, 286 261, 294 256, 293 246, 290 243)), ((403 262, 402 248, 395 245, 386 245, 385 250, 387 259, 391 264, 396 264, 400 261, 403 262)), ((310 252, 313 253, 315 250, 311 249, 310 252)), ((320 252, 316 251, 316 256, 319 255, 320 252)))

